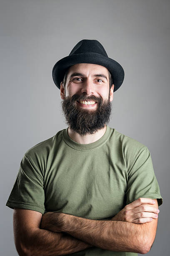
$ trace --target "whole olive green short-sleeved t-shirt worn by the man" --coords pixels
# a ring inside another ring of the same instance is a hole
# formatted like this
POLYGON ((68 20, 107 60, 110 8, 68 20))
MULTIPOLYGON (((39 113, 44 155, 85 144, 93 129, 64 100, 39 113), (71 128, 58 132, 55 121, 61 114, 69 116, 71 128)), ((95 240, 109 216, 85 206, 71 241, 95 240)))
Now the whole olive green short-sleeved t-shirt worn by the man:
MULTIPOLYGON (((147 146, 108 125, 105 134, 89 144, 73 141, 67 129, 25 152, 8 207, 109 220, 139 197, 163 203, 147 146)), ((94 246, 67 255, 138 254, 94 246)))

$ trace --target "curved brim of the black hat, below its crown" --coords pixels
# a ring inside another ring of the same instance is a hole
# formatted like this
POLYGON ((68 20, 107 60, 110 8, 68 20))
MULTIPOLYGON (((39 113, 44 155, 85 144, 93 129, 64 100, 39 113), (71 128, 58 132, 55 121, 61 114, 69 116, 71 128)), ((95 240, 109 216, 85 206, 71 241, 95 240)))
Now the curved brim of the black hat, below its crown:
POLYGON ((125 72, 117 61, 97 53, 74 54, 57 61, 52 69, 52 79, 59 89, 67 68, 78 63, 91 63, 106 67, 112 74, 113 92, 119 89, 124 80, 125 72))

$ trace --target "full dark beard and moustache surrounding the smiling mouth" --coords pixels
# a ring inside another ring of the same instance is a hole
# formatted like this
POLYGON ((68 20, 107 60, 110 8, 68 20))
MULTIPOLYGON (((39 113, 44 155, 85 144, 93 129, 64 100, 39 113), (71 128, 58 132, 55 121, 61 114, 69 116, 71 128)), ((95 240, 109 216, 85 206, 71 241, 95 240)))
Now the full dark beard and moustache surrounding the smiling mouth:
POLYGON ((85 94, 75 94, 72 97, 66 97, 62 100, 61 104, 67 125, 69 125, 72 131, 81 136, 94 134, 104 128, 105 124, 109 123, 112 107, 109 99, 103 101, 101 97, 98 98, 94 95, 87 97, 85 94), (97 101, 97 108, 94 110, 79 108, 75 105, 77 100, 97 101))

